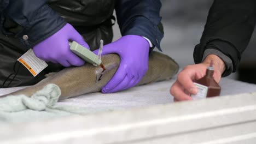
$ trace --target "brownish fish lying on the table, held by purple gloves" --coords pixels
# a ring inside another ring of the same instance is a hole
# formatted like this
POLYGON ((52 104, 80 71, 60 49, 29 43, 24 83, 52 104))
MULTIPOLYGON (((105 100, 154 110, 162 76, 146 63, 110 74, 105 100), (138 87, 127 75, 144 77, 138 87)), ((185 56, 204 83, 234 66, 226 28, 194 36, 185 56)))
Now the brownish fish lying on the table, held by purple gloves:
MULTIPOLYGON (((2 95, 24 94, 31 97, 34 93, 50 83, 54 83, 61 89, 59 100, 76 97, 82 94, 100 92, 118 70, 120 57, 115 53, 102 56, 102 64, 94 66, 89 63, 80 67, 65 68, 57 73, 49 73, 46 78, 35 85, 28 86, 19 91, 2 95)), ((149 55, 148 70, 141 81, 136 86, 146 85, 157 81, 170 80, 177 74, 179 65, 170 56, 163 53, 152 51, 149 55)))

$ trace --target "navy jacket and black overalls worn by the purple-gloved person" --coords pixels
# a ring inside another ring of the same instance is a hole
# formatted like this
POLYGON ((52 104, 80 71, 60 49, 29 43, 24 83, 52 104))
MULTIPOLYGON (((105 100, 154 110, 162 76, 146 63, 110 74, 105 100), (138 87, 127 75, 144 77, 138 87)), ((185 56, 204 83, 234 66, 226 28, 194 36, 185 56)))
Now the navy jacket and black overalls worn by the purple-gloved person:
POLYGON ((91 50, 99 47, 100 39, 111 43, 114 9, 122 35, 142 35, 160 49, 160 7, 159 0, 0 0, 0 87, 33 85, 45 74, 63 69, 48 62, 33 77, 17 59, 66 22, 83 35, 91 50))

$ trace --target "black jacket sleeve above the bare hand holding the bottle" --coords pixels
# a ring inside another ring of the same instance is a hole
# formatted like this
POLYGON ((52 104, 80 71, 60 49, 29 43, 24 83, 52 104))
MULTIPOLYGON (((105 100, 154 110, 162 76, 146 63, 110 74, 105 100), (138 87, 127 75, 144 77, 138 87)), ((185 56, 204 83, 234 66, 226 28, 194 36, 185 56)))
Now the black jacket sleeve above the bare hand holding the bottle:
MULTIPOLYGON (((231 72, 235 72, 242 52, 251 39, 255 22, 255 0, 215 0, 209 11, 200 44, 195 46, 195 63, 202 62, 205 50, 216 49, 232 60, 231 72)), ((224 72, 223 76, 230 73, 224 72)))

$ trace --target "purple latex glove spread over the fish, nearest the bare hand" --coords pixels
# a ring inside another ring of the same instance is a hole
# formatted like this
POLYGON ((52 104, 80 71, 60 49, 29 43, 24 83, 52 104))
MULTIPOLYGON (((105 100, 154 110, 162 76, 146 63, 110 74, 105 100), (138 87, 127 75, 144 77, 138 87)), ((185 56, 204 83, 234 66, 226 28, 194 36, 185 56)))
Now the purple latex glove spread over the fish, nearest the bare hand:
MULTIPOLYGON (((94 51, 98 53, 98 50, 94 51)), ((125 35, 104 45, 102 55, 117 53, 121 62, 102 93, 113 93, 135 86, 148 70, 149 43, 139 35, 125 35)))

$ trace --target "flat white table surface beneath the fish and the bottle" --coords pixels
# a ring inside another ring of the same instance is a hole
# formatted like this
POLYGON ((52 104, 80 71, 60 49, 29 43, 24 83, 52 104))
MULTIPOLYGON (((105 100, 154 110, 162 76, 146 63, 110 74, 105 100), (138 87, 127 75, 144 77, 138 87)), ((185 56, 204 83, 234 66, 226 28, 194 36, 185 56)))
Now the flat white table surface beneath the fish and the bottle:
MULTIPOLYGON (((175 79, 150 83, 148 85, 133 87, 126 91, 103 94, 100 92, 84 94, 79 97, 60 101, 58 104, 77 105, 97 110, 126 109, 129 107, 150 106, 156 104, 173 103, 169 93, 175 79)), ((220 81, 222 92, 220 95, 256 92, 256 85, 223 78, 220 81)), ((0 95, 16 91, 22 87, 0 88, 0 95)))

